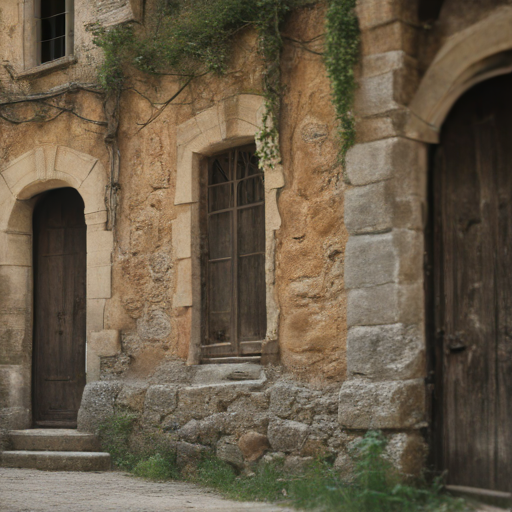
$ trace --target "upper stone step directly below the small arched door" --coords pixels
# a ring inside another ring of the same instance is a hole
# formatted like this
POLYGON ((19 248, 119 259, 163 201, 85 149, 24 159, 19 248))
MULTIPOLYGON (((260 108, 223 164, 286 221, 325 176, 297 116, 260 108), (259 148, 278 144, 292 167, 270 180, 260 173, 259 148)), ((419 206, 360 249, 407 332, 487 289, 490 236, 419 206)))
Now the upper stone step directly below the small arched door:
POLYGON ((64 428, 34 428, 9 432, 12 450, 98 452, 100 443, 94 434, 64 428))

